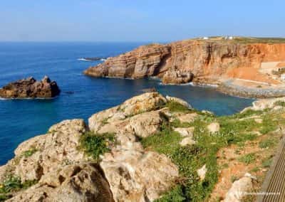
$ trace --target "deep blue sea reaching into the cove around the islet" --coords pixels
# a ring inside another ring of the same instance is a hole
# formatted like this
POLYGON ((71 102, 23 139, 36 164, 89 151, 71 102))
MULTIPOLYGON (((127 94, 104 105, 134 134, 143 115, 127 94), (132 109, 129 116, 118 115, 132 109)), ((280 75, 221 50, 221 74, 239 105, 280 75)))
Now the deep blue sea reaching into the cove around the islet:
POLYGON ((52 100, 0 100, 0 165, 14 156, 24 140, 45 134, 63 119, 88 119, 95 112, 120 104, 155 87, 163 95, 180 97, 198 110, 230 115, 251 105, 253 100, 231 97, 213 87, 160 85, 153 79, 90 78, 83 70, 102 61, 78 60, 107 58, 132 50, 143 43, 0 43, 0 86, 33 76, 48 75, 56 80, 61 95, 52 100), (72 92, 72 94, 71 94, 72 92))

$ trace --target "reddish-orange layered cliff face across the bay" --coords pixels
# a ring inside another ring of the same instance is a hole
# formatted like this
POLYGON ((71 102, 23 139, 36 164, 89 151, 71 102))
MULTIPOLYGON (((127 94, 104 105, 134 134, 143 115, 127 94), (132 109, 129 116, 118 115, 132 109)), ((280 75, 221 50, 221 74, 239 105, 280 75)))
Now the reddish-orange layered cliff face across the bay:
MULTIPOLYGON (((257 72, 262 62, 282 60, 285 60, 285 43, 188 40, 140 46, 108 58, 105 63, 90 67, 84 73, 95 77, 157 76, 163 83, 187 83, 191 80, 219 83, 222 78, 251 79, 247 71, 252 74, 257 72)), ((255 78, 268 80, 266 75, 257 74, 255 78)))

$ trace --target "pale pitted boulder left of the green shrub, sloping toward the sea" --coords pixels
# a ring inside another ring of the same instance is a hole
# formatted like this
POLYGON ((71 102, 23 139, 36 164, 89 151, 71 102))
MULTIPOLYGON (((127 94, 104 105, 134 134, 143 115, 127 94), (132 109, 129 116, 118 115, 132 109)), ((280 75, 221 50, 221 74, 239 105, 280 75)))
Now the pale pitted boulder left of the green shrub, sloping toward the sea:
POLYGON ((15 158, 7 167, 21 181, 41 179, 41 176, 64 164, 82 161, 86 157, 78 150, 79 139, 87 130, 83 119, 73 119, 53 125, 47 134, 23 142, 15 150, 15 158))

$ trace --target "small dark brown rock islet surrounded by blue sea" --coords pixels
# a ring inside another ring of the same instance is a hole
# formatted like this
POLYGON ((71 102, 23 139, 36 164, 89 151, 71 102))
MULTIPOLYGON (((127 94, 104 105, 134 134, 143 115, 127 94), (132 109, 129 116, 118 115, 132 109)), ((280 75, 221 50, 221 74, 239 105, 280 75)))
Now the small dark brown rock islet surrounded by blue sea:
POLYGON ((0 89, 0 97, 4 98, 51 98, 59 95, 58 85, 47 76, 41 81, 26 78, 9 83, 0 89))

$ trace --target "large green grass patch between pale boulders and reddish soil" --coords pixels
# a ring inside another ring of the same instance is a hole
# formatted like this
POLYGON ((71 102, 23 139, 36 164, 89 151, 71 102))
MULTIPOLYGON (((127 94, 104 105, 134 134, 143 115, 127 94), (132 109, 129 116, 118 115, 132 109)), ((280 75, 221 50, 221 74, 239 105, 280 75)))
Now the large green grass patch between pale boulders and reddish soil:
MULTIPOLYGON (((177 105, 177 103, 170 102, 167 106, 172 112, 190 111, 177 105)), ((267 132, 274 130, 277 122, 265 121, 258 124, 254 119, 249 118, 253 115, 264 115, 271 119, 271 116, 264 114, 267 112, 269 110, 264 112, 247 110, 242 114, 224 117, 199 113, 199 117, 193 122, 181 123, 175 119, 161 132, 141 139, 145 148, 167 155, 180 171, 180 181, 177 186, 174 186, 157 201, 207 201, 219 176, 217 151, 223 147, 228 147, 230 144, 237 144, 242 149, 244 142, 257 139, 257 134, 254 132, 258 131, 260 127, 263 127, 264 131, 267 132), (219 122, 221 128, 217 134, 210 134, 207 131, 207 125, 211 122, 219 122), (193 134, 197 144, 180 147, 179 143, 182 137, 174 132, 172 127, 195 127, 193 134), (197 169, 204 164, 206 164, 208 171, 204 181, 200 181, 199 176, 197 176, 197 169)), ((239 161, 251 164, 256 159, 255 154, 247 154, 242 156, 239 161)))

